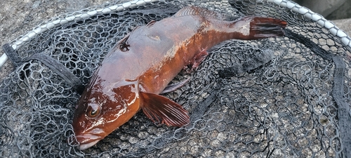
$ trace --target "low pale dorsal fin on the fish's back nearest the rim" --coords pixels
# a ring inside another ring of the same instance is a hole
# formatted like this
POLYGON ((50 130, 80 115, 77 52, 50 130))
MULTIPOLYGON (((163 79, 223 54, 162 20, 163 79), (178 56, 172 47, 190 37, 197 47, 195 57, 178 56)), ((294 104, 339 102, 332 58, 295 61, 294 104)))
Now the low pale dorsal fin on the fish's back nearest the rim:
POLYGON ((214 11, 210 11, 206 8, 199 8, 196 6, 186 6, 182 9, 180 9, 173 16, 174 17, 182 17, 182 16, 189 16, 189 15, 223 19, 223 15, 220 15, 219 13, 216 13, 214 11))

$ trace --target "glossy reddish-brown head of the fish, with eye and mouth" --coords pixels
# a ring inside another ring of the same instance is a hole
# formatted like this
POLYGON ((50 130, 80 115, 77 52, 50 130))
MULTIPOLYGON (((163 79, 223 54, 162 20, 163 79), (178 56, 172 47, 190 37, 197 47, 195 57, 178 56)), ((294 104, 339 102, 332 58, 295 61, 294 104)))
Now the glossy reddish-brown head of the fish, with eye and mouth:
POLYGON ((138 112, 140 103, 138 84, 118 86, 109 91, 86 89, 72 123, 79 149, 95 145, 126 123, 138 112))

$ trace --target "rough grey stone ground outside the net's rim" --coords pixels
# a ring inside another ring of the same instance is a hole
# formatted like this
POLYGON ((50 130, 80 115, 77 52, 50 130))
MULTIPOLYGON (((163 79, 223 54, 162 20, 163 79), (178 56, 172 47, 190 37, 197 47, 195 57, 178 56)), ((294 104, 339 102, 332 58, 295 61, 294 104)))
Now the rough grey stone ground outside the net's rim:
MULTIPOLYGON (((107 0, 4 0, 0 3, 0 46, 27 33, 49 18, 105 2, 107 0)), ((333 20, 333 22, 347 34, 351 34, 351 19, 333 20)), ((3 53, 1 48, 0 55, 3 53)), ((12 69, 11 62, 7 61, 0 68, 0 81, 12 69)))

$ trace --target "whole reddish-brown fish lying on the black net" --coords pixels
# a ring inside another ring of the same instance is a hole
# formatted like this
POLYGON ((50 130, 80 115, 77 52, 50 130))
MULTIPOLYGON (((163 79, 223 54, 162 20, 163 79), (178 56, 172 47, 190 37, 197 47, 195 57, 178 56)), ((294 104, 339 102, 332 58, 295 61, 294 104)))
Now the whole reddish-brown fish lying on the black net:
POLYGON ((171 80, 184 67, 199 66, 206 50, 222 41, 281 37, 286 25, 256 16, 227 21, 214 11, 187 6, 136 27, 110 49, 78 100, 72 126, 79 150, 95 145, 139 110, 154 122, 186 126, 187 110, 159 95, 170 91, 171 80))

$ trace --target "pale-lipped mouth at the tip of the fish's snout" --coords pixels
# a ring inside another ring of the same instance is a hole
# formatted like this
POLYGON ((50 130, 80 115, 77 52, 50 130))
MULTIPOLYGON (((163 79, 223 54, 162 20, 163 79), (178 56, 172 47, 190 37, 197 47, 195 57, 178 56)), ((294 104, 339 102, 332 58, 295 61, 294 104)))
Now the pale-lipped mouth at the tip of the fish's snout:
POLYGON ((81 134, 76 136, 76 138, 79 143, 79 150, 86 150, 102 140, 103 137, 93 134, 81 134))

